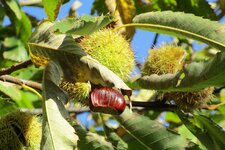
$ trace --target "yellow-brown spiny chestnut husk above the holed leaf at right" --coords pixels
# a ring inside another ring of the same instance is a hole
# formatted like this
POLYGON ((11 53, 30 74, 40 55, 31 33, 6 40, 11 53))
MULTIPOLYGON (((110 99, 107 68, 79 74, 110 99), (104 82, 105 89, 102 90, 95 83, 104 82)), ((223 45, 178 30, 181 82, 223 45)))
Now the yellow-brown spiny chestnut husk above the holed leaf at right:
POLYGON ((166 73, 176 73, 183 67, 185 51, 175 45, 164 45, 158 49, 149 50, 149 56, 145 61, 142 76, 166 73))

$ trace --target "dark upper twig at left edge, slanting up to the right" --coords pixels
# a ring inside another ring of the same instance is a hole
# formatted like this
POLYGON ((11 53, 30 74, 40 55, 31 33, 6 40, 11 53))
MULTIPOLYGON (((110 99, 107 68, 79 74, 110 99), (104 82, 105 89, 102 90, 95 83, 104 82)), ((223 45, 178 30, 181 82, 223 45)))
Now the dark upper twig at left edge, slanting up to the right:
POLYGON ((12 65, 9 68, 3 68, 3 69, 0 70, 0 76, 5 75, 5 74, 10 74, 10 73, 12 73, 12 72, 14 72, 16 70, 19 70, 19 69, 26 68, 27 66, 29 66, 31 64, 32 64, 32 61, 31 60, 27 60, 25 62, 12 65))

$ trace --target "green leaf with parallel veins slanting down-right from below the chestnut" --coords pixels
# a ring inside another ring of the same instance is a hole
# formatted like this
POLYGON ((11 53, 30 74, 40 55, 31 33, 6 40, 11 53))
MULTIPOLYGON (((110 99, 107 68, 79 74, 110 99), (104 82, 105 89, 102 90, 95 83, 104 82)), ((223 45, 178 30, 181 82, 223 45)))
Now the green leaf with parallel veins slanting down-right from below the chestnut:
POLYGON ((183 137, 145 116, 131 114, 126 110, 116 118, 146 149, 184 149, 187 146, 183 137))

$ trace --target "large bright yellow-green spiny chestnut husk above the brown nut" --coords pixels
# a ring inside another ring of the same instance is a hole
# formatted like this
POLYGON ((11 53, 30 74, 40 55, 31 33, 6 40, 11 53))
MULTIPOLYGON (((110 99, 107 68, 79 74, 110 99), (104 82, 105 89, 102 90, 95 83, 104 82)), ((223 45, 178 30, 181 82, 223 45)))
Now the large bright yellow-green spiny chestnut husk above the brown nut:
POLYGON ((112 29, 103 29, 84 37, 80 46, 123 80, 127 80, 134 69, 134 54, 129 42, 112 29))

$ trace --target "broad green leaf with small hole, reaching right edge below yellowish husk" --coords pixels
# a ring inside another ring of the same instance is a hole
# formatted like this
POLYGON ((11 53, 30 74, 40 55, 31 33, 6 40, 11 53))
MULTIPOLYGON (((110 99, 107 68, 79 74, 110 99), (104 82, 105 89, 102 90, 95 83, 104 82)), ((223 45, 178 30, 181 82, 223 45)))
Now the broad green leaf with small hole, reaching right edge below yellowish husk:
MULTIPOLYGON (((162 91, 196 91, 209 86, 225 85, 225 54, 217 55, 207 62, 191 63, 176 74, 144 76, 133 83, 133 88, 162 91), (184 77, 181 78, 181 76, 184 77)), ((130 85, 132 87, 132 85, 130 85)))

